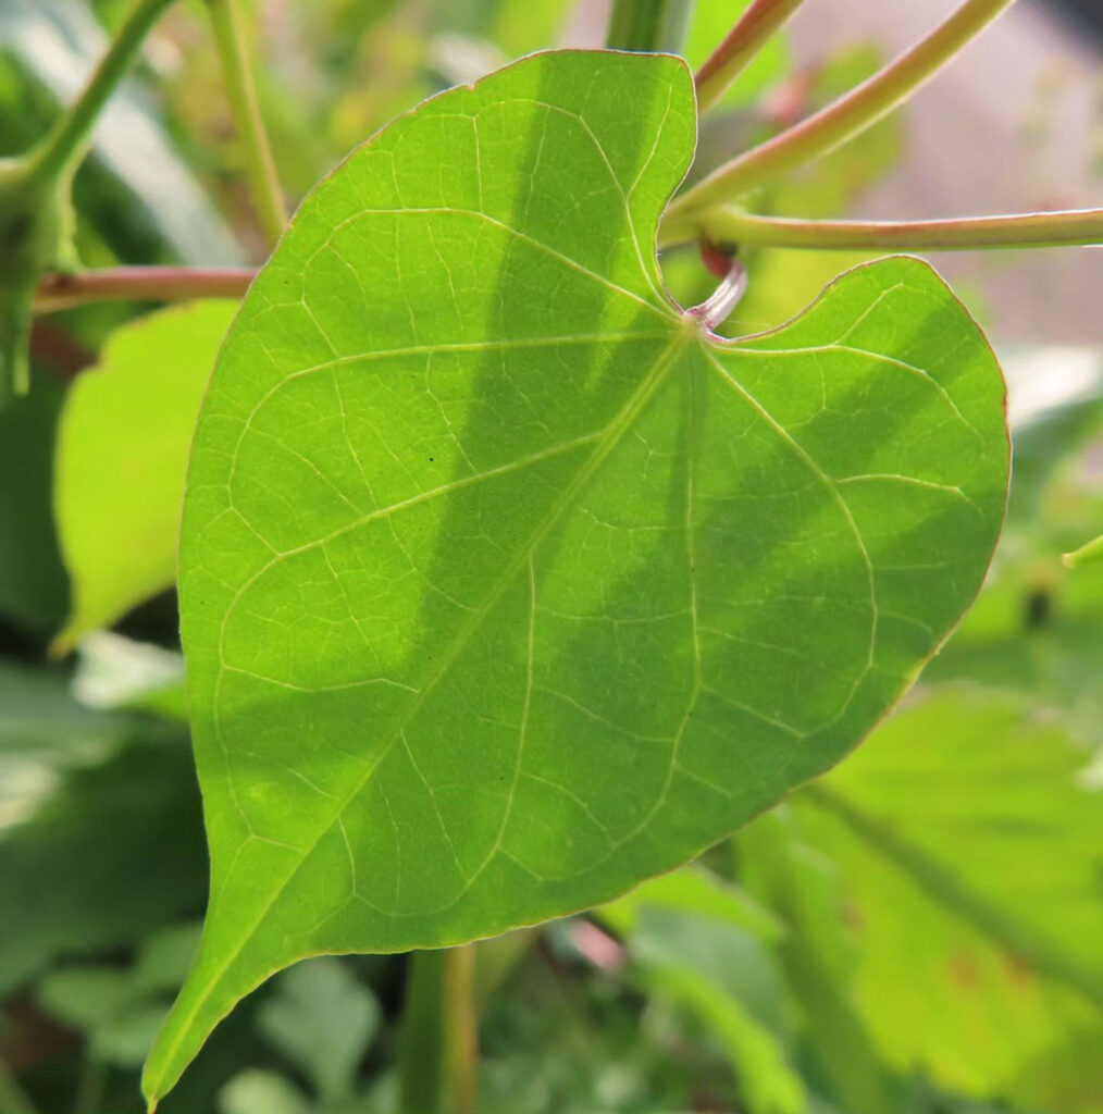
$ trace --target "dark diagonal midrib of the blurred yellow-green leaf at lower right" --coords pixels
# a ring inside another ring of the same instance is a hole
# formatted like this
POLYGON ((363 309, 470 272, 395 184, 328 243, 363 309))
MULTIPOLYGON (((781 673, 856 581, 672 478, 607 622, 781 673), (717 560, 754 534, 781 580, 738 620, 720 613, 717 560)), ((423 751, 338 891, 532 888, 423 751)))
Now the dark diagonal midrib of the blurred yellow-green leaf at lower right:
POLYGON ((872 851, 908 874, 928 897, 956 913, 1016 956, 1039 975, 1071 987, 1097 1006, 1103 1006, 1103 980, 1082 967, 1028 925, 1008 917, 962 879, 923 850, 901 839, 891 824, 870 815, 822 783, 806 786, 801 794, 841 820, 853 836, 872 851))

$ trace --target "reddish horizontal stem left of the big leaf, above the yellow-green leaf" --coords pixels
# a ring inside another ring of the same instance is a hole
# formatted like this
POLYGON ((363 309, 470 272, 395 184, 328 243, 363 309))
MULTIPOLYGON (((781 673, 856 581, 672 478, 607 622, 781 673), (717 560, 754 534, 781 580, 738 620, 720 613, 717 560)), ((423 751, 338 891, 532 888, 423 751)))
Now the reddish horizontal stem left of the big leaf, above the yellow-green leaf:
POLYGON ((109 267, 47 275, 35 294, 35 312, 53 313, 86 302, 134 299, 182 302, 194 297, 242 297, 256 272, 247 267, 109 267))

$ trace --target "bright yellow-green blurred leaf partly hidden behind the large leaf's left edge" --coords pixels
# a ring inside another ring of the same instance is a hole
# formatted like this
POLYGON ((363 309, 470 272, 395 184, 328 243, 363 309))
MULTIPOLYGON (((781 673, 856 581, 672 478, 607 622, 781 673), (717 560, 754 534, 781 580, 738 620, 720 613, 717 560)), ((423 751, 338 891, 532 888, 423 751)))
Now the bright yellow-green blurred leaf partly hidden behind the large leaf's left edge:
POLYGON ((55 512, 74 609, 58 648, 175 582, 192 433, 235 310, 194 302, 140 317, 70 388, 55 512))

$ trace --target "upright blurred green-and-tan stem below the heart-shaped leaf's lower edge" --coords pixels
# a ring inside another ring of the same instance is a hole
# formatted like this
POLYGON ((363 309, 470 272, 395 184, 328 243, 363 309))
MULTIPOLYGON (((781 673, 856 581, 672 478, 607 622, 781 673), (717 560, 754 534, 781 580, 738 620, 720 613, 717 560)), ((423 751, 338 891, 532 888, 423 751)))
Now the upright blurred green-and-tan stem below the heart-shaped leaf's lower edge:
POLYGON ((474 944, 410 955, 399 1047, 401 1114, 474 1114, 474 944))

